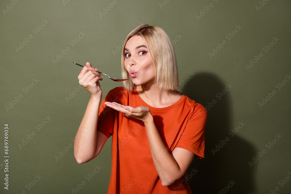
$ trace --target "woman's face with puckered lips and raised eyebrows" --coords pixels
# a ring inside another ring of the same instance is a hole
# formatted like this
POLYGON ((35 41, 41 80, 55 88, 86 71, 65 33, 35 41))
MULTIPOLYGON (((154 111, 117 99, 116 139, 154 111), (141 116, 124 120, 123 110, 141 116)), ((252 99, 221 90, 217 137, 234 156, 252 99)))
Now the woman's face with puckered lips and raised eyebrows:
POLYGON ((124 48, 124 54, 124 67, 136 86, 152 81, 155 75, 155 66, 141 36, 135 35, 129 38, 124 48))

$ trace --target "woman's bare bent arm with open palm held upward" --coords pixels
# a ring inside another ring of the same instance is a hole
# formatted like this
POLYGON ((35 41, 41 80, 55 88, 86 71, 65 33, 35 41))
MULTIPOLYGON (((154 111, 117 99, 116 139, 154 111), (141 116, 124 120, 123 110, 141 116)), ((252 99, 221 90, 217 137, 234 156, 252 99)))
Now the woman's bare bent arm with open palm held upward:
POLYGON ((144 122, 152 159, 163 186, 173 184, 185 174, 195 154, 179 147, 176 147, 170 154, 157 130, 148 107, 139 106, 133 108, 115 102, 105 102, 105 104, 128 117, 137 118, 144 122))

